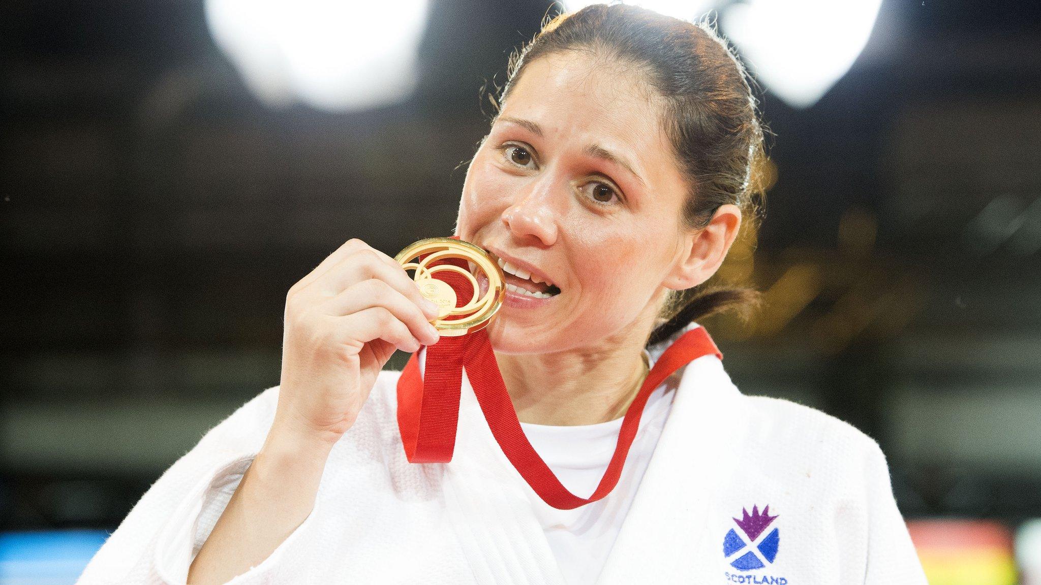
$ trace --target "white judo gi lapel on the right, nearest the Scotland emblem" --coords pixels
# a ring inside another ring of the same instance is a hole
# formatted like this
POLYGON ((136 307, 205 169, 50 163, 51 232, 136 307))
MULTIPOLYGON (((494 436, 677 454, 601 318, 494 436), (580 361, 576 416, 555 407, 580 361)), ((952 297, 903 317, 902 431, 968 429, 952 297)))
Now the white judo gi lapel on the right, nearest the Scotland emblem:
POLYGON ((746 433, 742 396, 713 355, 682 372, 676 401, 598 585, 699 583, 696 558, 718 485, 746 433))

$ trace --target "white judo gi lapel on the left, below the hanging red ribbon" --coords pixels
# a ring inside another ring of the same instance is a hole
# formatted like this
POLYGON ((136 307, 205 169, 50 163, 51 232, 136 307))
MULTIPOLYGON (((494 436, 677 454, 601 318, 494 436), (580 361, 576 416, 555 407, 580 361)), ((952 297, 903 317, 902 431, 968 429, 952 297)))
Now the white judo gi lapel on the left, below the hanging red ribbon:
POLYGON ((455 455, 446 464, 445 504, 474 578, 482 585, 565 585, 524 491, 499 448, 463 371, 455 455))

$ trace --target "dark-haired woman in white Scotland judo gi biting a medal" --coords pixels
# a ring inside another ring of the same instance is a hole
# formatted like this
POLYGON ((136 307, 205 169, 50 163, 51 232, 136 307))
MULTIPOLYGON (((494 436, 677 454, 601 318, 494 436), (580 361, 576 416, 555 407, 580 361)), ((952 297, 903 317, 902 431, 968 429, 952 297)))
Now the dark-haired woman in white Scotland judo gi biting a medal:
MULTIPOLYGON (((456 235, 511 275, 486 330, 509 401, 586 498, 648 368, 753 300, 689 297, 754 211, 763 132, 709 27, 625 5, 551 22, 499 105, 456 235)), ((435 314, 385 254, 336 250, 286 297, 281 384, 175 463, 80 582, 924 583, 874 441, 741 396, 711 352, 653 388, 595 502, 547 504, 465 381, 451 463, 409 463, 381 367, 400 349, 424 368, 435 314)))

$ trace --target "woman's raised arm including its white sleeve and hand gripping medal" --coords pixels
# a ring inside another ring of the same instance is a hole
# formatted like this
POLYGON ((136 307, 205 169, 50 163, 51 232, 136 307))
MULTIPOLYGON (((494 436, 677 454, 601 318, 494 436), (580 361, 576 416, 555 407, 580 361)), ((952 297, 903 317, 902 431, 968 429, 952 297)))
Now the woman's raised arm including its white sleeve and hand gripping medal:
POLYGON ((279 551, 314 524, 333 444, 396 349, 437 341, 428 321, 436 315, 393 258, 360 239, 330 254, 286 295, 277 391, 251 401, 168 469, 79 583, 223 583, 244 573, 243 583, 270 583, 289 570, 279 551))

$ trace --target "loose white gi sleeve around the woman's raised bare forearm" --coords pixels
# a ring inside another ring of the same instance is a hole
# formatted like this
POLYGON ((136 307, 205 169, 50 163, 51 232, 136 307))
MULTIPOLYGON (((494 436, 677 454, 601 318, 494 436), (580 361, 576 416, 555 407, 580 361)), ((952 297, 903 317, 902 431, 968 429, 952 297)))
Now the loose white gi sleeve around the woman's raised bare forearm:
MULTIPOLYGON (((275 386, 210 429, 145 492, 77 585, 183 585, 188 566, 263 444, 277 402, 275 386)), ((313 524, 316 509, 315 501, 310 515, 263 562, 229 583, 264 582, 282 552, 313 524)))

